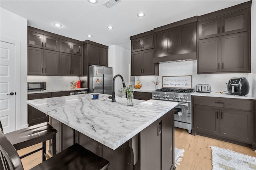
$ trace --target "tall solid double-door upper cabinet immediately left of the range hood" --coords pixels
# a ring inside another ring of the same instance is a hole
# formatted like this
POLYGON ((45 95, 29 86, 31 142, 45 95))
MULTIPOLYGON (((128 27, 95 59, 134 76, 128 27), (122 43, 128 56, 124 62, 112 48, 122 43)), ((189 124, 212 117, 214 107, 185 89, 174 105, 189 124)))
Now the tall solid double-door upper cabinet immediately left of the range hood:
POLYGON ((132 76, 159 75, 159 63, 153 63, 154 49, 132 53, 132 76))

